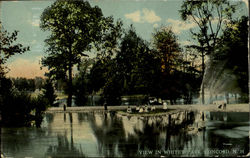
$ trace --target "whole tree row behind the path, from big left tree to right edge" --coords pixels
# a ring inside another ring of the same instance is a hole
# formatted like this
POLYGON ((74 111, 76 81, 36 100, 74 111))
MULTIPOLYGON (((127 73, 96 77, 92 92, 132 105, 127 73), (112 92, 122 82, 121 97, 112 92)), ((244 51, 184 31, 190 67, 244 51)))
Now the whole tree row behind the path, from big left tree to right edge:
MULTIPOLYGON (((102 92, 108 104, 119 104, 122 95, 134 94, 157 96, 171 103, 183 98, 185 103, 192 103, 200 85, 204 103, 204 85, 208 84, 204 76, 209 75, 205 75, 205 58, 210 59, 207 69, 211 71, 212 65, 221 61, 214 60, 218 54, 227 54, 227 68, 235 69, 237 82, 242 84, 240 91, 246 93, 247 68, 243 67, 247 63, 243 58, 247 51, 242 49, 242 55, 233 52, 246 38, 236 35, 247 31, 247 27, 239 27, 239 23, 246 23, 246 18, 233 20, 237 5, 227 0, 184 1, 179 11, 181 18, 193 21, 198 29, 190 30, 196 44, 183 49, 169 27, 155 30, 153 43, 148 43, 132 26, 125 31, 120 20, 104 17, 97 6, 91 7, 85 1, 56 1, 41 16, 41 28, 51 32, 45 40, 48 56, 42 63, 48 66, 51 79, 67 83, 68 106, 73 95, 81 104, 86 101, 86 94, 97 92, 102 92), (233 23, 237 29, 230 31, 233 25, 229 24, 233 23), (234 38, 233 45, 228 43, 231 40, 226 41, 228 36, 234 38), (228 49, 231 51, 225 51, 228 49), (95 60, 83 60, 86 56, 83 52, 90 50, 97 52, 95 60), (232 61, 236 56, 239 60, 232 61), (197 57, 202 61, 200 67, 193 61, 197 57), (240 64, 241 60, 244 64, 240 64), (75 81, 74 65, 79 70, 75 81)), ((246 47, 244 42, 242 47, 246 47)))

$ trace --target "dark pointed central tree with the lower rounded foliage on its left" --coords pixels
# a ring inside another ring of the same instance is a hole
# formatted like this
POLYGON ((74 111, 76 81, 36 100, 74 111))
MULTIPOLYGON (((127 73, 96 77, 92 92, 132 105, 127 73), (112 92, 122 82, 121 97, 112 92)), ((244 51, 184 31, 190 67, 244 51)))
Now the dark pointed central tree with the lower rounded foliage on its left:
POLYGON ((90 87, 96 92, 102 90, 107 103, 112 105, 120 103, 121 95, 153 93, 158 63, 149 43, 132 26, 119 37, 111 53, 97 57, 89 79, 90 87))

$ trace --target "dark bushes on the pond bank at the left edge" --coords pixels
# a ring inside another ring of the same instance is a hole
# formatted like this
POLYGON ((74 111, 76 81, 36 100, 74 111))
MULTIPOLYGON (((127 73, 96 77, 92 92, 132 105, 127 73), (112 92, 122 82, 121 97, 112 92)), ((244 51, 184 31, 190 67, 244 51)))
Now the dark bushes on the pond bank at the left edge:
POLYGON ((0 111, 4 126, 30 126, 35 121, 39 126, 43 111, 48 101, 38 96, 32 98, 28 92, 18 91, 13 82, 5 77, 0 78, 0 111), (32 114, 35 111, 35 114, 32 114))

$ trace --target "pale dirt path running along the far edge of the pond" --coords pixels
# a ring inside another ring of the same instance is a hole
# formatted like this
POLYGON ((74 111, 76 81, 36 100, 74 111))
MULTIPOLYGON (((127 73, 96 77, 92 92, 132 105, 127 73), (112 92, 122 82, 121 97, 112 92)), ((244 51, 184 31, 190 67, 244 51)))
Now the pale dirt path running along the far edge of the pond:
MULTIPOLYGON (((135 106, 131 106, 135 108, 135 106)), ((108 110, 124 110, 127 106, 108 106, 108 110)), ((156 106, 162 108, 162 106, 156 106)), ((211 112, 249 112, 249 104, 228 104, 226 110, 218 109, 216 105, 168 105, 169 109, 198 110, 211 112)), ((66 112, 102 111, 103 106, 67 107, 66 112)), ((63 107, 51 107, 46 112, 64 112, 63 107)))

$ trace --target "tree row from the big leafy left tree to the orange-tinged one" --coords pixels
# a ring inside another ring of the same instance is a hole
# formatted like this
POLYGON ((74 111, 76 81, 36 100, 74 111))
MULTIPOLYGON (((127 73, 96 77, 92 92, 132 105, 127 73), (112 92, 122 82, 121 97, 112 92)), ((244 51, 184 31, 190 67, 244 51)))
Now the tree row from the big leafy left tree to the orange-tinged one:
POLYGON ((132 94, 159 96, 174 103, 185 93, 190 102, 191 93, 197 92, 194 83, 200 76, 194 72, 198 70, 184 61, 177 37, 168 27, 155 32, 150 46, 133 27, 124 31, 120 20, 104 17, 99 7, 85 1, 56 1, 43 12, 40 27, 51 33, 45 40, 48 56, 42 64, 51 79, 67 83, 68 106, 73 94, 81 98, 77 93, 86 94, 86 90, 89 94, 101 90, 109 104, 132 94), (86 56, 83 52, 89 50, 97 51, 97 58, 87 79, 83 78, 86 71, 80 70, 74 90, 72 68, 79 68, 86 56))

